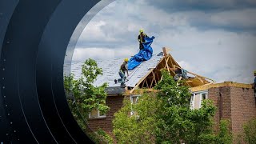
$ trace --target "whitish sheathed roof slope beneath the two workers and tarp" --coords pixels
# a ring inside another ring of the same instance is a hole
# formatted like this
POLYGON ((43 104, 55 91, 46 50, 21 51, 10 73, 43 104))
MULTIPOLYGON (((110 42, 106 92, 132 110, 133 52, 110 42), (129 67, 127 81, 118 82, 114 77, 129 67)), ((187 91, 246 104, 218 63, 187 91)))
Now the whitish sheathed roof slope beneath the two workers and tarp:
MULTIPOLYGON (((149 71, 150 68, 155 68, 158 62, 163 58, 162 52, 159 54, 153 54, 150 60, 142 62, 134 70, 129 70, 129 77, 126 78, 126 86, 134 87, 149 71)), ((123 58, 113 58, 110 60, 96 60, 98 67, 102 68, 103 74, 98 75, 98 78, 94 82, 94 86, 101 86, 104 82, 108 83, 109 87, 120 86, 120 83, 115 84, 114 79, 120 78, 118 71, 122 65, 123 58)), ((71 73, 74 73, 74 78, 81 77, 82 64, 84 62, 72 63, 71 73)))

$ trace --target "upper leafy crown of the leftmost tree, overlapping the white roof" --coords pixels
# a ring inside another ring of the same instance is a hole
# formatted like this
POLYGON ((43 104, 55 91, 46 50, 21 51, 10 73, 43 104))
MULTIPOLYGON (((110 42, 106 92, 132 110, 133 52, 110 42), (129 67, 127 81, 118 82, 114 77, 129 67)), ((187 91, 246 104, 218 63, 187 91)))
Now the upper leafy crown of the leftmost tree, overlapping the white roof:
POLYGON ((93 83, 102 75, 102 69, 98 68, 97 62, 93 59, 87 59, 82 65, 82 76, 74 79, 74 74, 64 77, 64 87, 67 94, 73 95, 75 102, 72 107, 78 106, 83 117, 87 118, 88 114, 94 108, 98 108, 101 113, 106 113, 110 110, 106 106, 106 86, 94 86, 93 83))

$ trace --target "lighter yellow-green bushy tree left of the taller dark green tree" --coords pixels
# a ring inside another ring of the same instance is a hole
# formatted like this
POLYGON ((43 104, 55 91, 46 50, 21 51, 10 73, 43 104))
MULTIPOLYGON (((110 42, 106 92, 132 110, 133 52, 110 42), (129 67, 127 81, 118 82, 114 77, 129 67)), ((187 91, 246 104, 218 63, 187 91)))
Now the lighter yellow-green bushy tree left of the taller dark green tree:
POLYGON ((130 99, 124 99, 124 106, 114 114, 113 133, 118 143, 152 143, 156 128, 156 97, 143 94, 137 104, 131 104, 130 99), (131 115, 130 112, 134 111, 131 115))

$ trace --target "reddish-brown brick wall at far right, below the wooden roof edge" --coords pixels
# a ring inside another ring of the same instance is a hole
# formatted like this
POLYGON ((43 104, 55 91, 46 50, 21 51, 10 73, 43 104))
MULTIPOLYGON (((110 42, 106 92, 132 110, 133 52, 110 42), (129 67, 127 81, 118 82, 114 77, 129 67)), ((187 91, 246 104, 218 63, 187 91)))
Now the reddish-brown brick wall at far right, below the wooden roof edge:
POLYGON ((210 88, 208 98, 217 107, 214 130, 219 130, 220 118, 229 119, 234 136, 242 133, 242 125, 256 117, 254 90, 234 86, 210 88))

